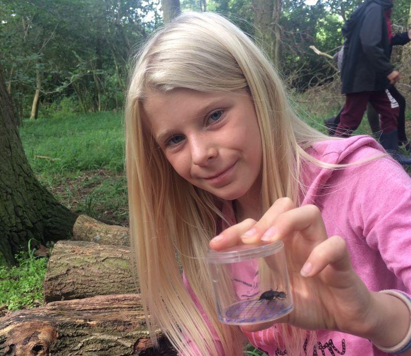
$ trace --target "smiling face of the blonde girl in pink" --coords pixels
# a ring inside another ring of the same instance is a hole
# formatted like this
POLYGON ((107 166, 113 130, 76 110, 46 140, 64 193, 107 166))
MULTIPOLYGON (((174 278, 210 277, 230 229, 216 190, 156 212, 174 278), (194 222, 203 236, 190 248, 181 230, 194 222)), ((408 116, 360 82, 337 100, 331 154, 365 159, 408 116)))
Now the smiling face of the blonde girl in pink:
POLYGON ((226 200, 259 191, 261 140, 246 90, 204 93, 192 89, 150 92, 144 124, 176 172, 226 200))

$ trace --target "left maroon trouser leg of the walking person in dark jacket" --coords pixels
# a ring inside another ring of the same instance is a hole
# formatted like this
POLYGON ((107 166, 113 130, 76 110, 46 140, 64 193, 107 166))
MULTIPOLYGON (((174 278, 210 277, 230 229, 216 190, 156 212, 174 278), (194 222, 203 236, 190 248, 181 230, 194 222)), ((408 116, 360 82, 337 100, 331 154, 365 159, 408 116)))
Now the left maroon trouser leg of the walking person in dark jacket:
POLYGON ((344 110, 340 115, 340 123, 335 136, 348 137, 361 123, 368 98, 371 92, 350 93, 345 96, 344 110))

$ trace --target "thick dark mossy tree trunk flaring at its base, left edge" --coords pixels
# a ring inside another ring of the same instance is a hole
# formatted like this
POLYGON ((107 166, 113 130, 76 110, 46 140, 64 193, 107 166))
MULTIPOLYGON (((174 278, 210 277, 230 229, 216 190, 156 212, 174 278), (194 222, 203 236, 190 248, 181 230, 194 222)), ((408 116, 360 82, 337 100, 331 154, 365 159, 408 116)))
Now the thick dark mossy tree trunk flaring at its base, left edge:
POLYGON ((34 176, 0 66, 0 253, 12 264, 31 238, 43 245, 67 239, 76 218, 34 176))

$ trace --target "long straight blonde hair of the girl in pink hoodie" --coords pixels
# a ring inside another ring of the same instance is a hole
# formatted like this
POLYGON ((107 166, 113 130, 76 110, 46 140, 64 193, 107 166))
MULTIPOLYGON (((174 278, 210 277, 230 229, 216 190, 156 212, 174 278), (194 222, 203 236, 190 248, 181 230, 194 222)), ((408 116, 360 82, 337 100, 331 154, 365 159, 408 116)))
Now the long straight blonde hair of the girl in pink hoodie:
MULTIPOLYGON (((246 34, 218 14, 181 14, 151 36, 136 61, 126 102, 126 170, 131 246, 147 327, 155 343, 159 327, 183 354, 194 352, 186 342, 190 339, 201 354, 217 355, 213 335, 183 285, 178 251, 186 278, 225 353, 241 354, 244 335, 238 327, 218 322, 202 259, 216 235, 217 220, 223 218, 217 199, 184 181, 144 129, 141 108, 147 89, 249 90, 263 146, 263 211, 280 197, 300 202, 301 162, 315 161, 305 149, 329 137, 296 117, 270 61, 246 34)), ((296 355, 293 350, 301 349, 307 331, 287 325, 282 329, 288 354, 296 355)))

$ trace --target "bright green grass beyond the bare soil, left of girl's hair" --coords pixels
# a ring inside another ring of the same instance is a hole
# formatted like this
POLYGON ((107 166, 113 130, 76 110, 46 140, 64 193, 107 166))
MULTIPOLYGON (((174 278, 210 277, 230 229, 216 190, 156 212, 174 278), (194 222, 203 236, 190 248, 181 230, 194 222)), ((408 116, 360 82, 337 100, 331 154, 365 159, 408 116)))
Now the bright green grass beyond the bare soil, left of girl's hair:
POLYGON ((113 112, 75 115, 61 111, 57 117, 24 121, 20 135, 38 174, 99 168, 122 172, 122 126, 122 116, 113 112))

